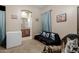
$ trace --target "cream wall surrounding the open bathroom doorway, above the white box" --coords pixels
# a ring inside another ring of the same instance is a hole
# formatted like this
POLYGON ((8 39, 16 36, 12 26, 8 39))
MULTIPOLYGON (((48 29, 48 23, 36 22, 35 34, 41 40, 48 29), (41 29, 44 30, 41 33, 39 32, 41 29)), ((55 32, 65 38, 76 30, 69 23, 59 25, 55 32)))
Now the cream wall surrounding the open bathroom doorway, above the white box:
POLYGON ((27 5, 7 5, 6 6, 6 31, 21 30, 21 10, 32 12, 32 35, 41 31, 40 10, 27 5), (11 19, 11 15, 17 15, 17 19, 11 19), (39 19, 37 22, 35 19, 39 19))

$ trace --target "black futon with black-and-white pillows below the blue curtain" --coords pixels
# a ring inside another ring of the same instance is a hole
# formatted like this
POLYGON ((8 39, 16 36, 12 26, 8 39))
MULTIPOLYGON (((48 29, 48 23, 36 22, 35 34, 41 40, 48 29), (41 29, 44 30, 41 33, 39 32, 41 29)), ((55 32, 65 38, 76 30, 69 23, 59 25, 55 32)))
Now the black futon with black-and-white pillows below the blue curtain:
POLYGON ((60 45, 61 44, 59 35, 53 32, 43 31, 41 34, 35 35, 34 39, 39 40, 40 42, 46 45, 60 45))

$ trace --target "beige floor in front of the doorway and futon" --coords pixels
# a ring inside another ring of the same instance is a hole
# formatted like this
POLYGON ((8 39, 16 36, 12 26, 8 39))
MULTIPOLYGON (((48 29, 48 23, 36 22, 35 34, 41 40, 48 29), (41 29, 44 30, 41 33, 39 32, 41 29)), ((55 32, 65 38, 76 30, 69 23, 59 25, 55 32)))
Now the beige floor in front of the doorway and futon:
POLYGON ((22 44, 17 47, 5 49, 0 47, 0 53, 41 53, 44 44, 34 39, 23 40, 22 44))

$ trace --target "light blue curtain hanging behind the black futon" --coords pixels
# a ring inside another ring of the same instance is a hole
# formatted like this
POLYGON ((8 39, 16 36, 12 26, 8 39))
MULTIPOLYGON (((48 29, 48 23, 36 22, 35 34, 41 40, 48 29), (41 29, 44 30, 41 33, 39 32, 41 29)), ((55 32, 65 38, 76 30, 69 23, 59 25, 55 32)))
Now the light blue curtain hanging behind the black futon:
POLYGON ((51 11, 42 14, 42 31, 52 32, 51 11))

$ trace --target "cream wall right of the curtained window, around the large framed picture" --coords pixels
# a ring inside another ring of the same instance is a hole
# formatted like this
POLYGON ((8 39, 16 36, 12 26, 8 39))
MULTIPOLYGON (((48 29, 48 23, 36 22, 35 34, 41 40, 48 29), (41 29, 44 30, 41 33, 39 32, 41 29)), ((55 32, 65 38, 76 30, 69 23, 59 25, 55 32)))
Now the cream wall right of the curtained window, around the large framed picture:
POLYGON ((56 32, 63 38, 68 33, 77 33, 77 6, 48 6, 42 9, 42 13, 47 10, 52 10, 52 32, 56 32), (56 15, 66 13, 67 21, 57 23, 56 15))

